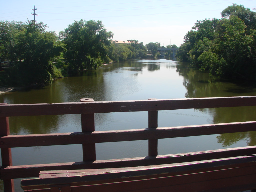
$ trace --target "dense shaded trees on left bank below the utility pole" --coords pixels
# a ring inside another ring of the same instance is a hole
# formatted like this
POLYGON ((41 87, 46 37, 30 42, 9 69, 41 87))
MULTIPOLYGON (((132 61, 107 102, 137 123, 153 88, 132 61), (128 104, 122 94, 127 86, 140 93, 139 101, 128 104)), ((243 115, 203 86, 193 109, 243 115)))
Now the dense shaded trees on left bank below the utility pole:
MULTIPOLYGON (((65 47, 56 43, 54 32, 45 30, 47 25, 41 22, 34 25, 28 20, 27 24, 5 22, 5 26, 9 28, 9 33, 5 34, 8 54, 2 59, 8 60, 9 66, 1 73, 1 83, 26 86, 49 83, 61 77, 53 61, 65 47)), ((1 31, 1 34, 4 33, 1 31)))

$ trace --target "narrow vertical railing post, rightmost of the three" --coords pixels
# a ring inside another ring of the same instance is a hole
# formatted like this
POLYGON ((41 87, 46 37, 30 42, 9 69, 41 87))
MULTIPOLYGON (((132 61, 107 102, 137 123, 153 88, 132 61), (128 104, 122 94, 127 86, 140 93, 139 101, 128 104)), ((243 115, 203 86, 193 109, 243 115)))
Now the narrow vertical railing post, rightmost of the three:
MULTIPOLYGON (((157 111, 148 111, 148 128, 156 129, 157 127, 157 111)), ((148 156, 157 156, 157 139, 148 140, 148 156)))

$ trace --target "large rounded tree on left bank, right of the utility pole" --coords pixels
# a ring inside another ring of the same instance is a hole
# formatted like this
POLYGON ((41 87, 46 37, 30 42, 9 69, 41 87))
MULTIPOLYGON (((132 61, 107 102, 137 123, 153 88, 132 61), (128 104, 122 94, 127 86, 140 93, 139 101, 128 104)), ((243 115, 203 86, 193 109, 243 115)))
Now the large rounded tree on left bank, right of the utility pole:
POLYGON ((65 31, 60 31, 59 37, 66 44, 65 58, 73 72, 96 69, 110 61, 107 55, 113 33, 107 32, 99 20, 75 21, 65 31))

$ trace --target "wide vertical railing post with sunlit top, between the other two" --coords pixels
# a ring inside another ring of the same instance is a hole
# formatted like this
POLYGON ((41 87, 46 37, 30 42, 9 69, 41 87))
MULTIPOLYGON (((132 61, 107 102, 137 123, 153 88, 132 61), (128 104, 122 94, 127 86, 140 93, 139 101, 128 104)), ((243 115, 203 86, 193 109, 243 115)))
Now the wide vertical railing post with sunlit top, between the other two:
MULTIPOLYGON (((80 99, 81 102, 93 101, 93 99, 80 99)), ((82 132, 93 132, 94 127, 94 113, 81 114, 82 132)), ((82 144, 83 145, 83 161, 95 161, 96 149, 95 143, 82 144)))

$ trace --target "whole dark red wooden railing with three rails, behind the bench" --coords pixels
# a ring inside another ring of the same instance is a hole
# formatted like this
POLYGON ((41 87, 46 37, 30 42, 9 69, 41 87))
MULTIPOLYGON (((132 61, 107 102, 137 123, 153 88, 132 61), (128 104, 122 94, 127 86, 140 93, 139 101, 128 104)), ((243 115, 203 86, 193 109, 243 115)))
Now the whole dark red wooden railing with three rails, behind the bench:
MULTIPOLYGON (((235 150, 216 150, 175 156, 157 156, 157 140, 161 138, 186 137, 256 131, 256 121, 220 123, 181 127, 158 127, 157 111, 218 108, 256 105, 256 96, 191 98, 191 99, 149 99, 136 101, 102 101, 81 99, 81 102, 52 104, 0 104, 0 148, 2 167, 0 178, 4 181, 4 191, 14 191, 13 179, 38 177, 42 170, 67 170, 89 168, 115 168, 142 165, 166 164, 171 162, 198 161, 234 155, 256 154, 256 147, 239 147, 235 150), (148 111, 148 128, 117 131, 95 131, 94 113, 148 111), (81 114, 81 132, 31 135, 10 135, 8 117, 31 115, 81 114), (148 157, 96 160, 95 143, 148 140, 148 157), (48 145, 82 144, 83 161, 71 163, 12 165, 11 148, 48 145), (225 155, 224 155, 225 152, 225 155), (235 154, 234 154, 235 153, 235 154), (189 154, 189 155, 188 155, 189 154)), ((242 115, 242 114, 241 114, 242 115)))

